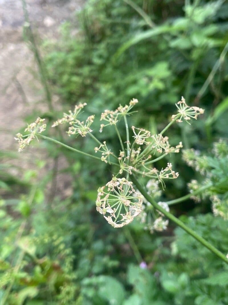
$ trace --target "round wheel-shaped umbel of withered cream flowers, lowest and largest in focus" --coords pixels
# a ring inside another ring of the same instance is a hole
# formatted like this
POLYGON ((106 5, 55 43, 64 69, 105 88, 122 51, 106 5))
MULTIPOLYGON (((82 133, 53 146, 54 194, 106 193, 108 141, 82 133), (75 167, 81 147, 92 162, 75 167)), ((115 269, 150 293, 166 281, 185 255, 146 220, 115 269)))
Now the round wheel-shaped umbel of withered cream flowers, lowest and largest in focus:
POLYGON ((133 221, 142 211, 143 196, 137 193, 132 182, 113 177, 98 188, 96 208, 114 228, 121 228, 133 221))

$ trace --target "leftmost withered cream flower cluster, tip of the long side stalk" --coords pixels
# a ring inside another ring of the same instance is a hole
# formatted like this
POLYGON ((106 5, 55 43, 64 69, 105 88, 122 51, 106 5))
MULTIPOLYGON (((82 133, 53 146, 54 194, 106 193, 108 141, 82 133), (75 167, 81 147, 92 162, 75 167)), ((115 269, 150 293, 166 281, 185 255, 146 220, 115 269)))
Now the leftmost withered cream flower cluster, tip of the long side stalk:
MULTIPOLYGON (((17 138, 16 141, 19 142, 19 149, 18 151, 21 152, 26 146, 28 146, 34 138, 37 138, 36 134, 40 134, 46 129, 46 124, 43 124, 45 119, 41 119, 38 117, 34 123, 28 125, 25 131, 29 131, 28 135, 23 136, 22 134, 16 134, 17 138)), ((38 140, 38 138, 37 138, 38 140)))

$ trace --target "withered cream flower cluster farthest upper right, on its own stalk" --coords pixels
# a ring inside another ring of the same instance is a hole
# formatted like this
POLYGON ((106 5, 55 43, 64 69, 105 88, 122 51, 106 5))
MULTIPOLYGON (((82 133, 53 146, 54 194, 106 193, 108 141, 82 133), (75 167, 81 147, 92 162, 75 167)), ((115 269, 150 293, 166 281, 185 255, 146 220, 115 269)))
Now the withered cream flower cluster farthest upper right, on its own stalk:
POLYGON ((178 114, 174 114, 172 116, 172 120, 175 120, 175 118, 178 116, 177 122, 183 122, 182 119, 184 119, 188 124, 190 124, 188 121, 191 119, 197 120, 198 115, 204 113, 204 109, 199 107, 189 107, 183 96, 181 97, 181 101, 179 101, 177 104, 178 114))

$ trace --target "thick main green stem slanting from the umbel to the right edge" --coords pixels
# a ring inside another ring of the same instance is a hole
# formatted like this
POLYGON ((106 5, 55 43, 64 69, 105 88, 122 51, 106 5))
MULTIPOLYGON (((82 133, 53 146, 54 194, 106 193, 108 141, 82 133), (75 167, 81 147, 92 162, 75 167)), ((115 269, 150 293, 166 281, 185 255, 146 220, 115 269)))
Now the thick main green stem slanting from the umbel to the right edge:
POLYGON ((137 179, 132 175, 131 176, 132 182, 136 185, 136 188, 141 192, 141 194, 149 201, 152 206, 161 213, 163 213, 167 218, 169 218, 171 221, 173 221, 175 224, 177 224, 179 227, 181 227, 183 230, 185 230, 189 235, 191 235, 193 238, 198 240, 203 246, 205 246, 207 249, 209 249, 212 253, 214 253, 217 257, 221 258, 226 264, 228 264, 228 259, 226 256, 220 252, 218 249, 216 249, 214 246, 212 246, 209 242, 206 241, 203 237, 198 235, 195 231, 193 231, 191 228, 186 226, 182 221, 180 221, 178 218, 176 218, 173 214, 167 212, 164 210, 161 206, 157 204, 154 199, 147 194, 146 190, 140 185, 140 183, 137 181, 137 179))

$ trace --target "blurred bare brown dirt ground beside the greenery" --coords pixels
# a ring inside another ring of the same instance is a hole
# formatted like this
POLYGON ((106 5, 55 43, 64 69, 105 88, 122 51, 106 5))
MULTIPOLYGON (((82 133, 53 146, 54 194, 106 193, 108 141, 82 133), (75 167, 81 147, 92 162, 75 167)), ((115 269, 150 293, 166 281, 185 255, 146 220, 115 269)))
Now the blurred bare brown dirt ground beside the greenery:
MULTIPOLYGON (((83 0, 27 0, 30 23, 40 39, 56 39, 59 27, 66 20, 77 23, 76 12, 81 9, 83 0)), ((24 16, 21 0, 0 0, 0 151, 17 150, 15 133, 25 126, 24 118, 34 109, 46 110, 42 86, 37 73, 33 53, 22 37, 24 16)), ((45 156, 43 150, 27 149, 16 162, 28 168, 35 159, 45 156)), ((4 160, 5 161, 5 160, 4 160)), ((14 163, 13 160, 6 162, 14 163)), ((52 163, 53 161, 50 161, 52 163)), ((58 167, 64 167, 59 160, 58 167)), ((50 168, 50 166, 47 167, 50 168)), ((14 169, 15 170, 15 169, 14 169)), ((16 171, 16 170, 15 170, 16 171)), ((15 174, 17 174, 15 172, 15 174)), ((66 188, 69 181, 58 178, 57 188, 66 188), (62 184, 62 185, 61 185, 62 184)), ((69 190, 68 190, 69 192, 69 190)))

